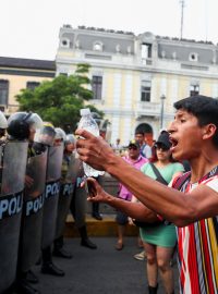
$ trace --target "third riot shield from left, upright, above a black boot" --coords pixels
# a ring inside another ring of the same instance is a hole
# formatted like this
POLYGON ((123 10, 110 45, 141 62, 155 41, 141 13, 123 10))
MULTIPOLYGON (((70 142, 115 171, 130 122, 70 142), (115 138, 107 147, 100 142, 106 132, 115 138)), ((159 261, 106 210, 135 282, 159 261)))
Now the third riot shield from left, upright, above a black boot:
POLYGON ((63 145, 49 147, 43 215, 43 249, 52 244, 56 235, 62 158, 63 145))

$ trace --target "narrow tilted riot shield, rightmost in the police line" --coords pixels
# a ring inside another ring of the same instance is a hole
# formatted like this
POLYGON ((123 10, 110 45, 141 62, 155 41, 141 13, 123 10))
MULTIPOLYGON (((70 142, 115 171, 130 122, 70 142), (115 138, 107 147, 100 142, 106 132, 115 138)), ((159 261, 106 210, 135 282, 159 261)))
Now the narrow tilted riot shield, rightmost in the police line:
POLYGON ((73 196, 78 168, 80 168, 78 159, 75 158, 75 152, 73 152, 71 155, 71 159, 68 166, 65 179, 62 179, 61 181, 59 203, 58 203, 56 238, 63 235, 65 219, 73 196))

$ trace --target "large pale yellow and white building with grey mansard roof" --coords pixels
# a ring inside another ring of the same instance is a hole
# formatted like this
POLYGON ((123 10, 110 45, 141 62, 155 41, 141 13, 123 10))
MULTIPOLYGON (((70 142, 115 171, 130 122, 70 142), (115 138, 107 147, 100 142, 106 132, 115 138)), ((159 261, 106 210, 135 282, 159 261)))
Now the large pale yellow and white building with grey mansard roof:
POLYGON ((218 97, 218 47, 211 42, 64 25, 57 75, 73 74, 78 63, 90 64, 92 102, 111 123, 111 143, 126 144, 137 128, 152 143, 172 120, 174 101, 218 97))

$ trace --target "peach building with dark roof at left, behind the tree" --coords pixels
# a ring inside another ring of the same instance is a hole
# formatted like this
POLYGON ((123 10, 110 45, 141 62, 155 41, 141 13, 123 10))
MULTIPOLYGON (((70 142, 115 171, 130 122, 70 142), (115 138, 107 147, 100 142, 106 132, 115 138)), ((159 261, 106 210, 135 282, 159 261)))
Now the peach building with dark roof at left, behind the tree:
POLYGON ((16 111, 21 89, 33 89, 55 76, 55 61, 0 57, 0 110, 7 115, 16 111))

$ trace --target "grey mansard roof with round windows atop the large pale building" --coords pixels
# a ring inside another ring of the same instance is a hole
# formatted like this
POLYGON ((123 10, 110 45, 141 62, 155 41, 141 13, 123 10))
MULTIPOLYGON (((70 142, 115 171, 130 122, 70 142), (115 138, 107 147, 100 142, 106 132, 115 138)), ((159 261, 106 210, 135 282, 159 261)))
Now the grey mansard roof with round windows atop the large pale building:
MULTIPOLYGON (((64 25, 60 29, 59 38, 59 48, 86 51, 86 57, 89 58, 89 54, 92 54, 90 58, 93 59, 102 59, 107 58, 107 54, 116 53, 140 54, 141 45, 150 45, 150 48, 154 45, 158 59, 191 62, 193 64, 218 63, 218 46, 211 41, 161 37, 155 36, 150 32, 136 36, 131 32, 85 26, 73 28, 71 25, 64 25)), ((108 58, 108 60, 112 59, 108 58)))

